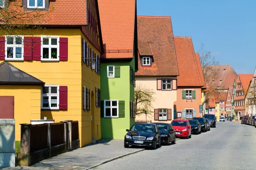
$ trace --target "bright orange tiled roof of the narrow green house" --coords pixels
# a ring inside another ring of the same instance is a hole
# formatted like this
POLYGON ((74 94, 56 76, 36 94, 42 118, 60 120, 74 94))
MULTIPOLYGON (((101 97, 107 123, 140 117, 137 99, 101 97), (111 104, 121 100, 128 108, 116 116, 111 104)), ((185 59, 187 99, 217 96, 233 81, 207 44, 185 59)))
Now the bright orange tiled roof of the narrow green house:
POLYGON ((102 39, 106 51, 102 58, 133 58, 135 1, 98 0, 102 39))

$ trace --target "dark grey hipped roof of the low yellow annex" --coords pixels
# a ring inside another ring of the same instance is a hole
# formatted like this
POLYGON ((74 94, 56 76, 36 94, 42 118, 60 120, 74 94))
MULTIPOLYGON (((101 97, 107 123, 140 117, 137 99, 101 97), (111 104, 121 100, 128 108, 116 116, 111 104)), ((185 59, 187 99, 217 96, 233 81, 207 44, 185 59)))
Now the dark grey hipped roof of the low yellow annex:
POLYGON ((9 62, 0 64, 0 84, 44 84, 43 81, 37 79, 30 74, 21 71, 9 62))

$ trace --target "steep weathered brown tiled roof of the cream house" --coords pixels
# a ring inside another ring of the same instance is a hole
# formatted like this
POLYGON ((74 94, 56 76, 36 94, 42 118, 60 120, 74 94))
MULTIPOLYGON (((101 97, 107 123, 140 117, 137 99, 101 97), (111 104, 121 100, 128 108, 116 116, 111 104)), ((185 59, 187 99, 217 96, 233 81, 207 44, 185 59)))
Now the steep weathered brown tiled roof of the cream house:
MULTIPOLYGON (((136 76, 177 76, 179 75, 171 17, 138 16, 138 41, 150 42, 153 52, 151 66, 141 66, 136 76)), ((139 46, 139 51, 141 48, 139 46)))

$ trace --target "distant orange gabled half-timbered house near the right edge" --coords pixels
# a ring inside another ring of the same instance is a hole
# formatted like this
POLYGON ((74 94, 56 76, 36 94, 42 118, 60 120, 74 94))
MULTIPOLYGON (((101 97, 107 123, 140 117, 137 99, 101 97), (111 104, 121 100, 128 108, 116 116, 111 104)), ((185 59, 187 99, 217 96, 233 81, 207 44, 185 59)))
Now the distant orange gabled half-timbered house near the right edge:
POLYGON ((253 78, 253 74, 239 74, 236 83, 236 94, 235 94, 235 114, 236 119, 239 120, 241 116, 246 115, 245 113, 245 97, 247 90, 250 85, 250 81, 253 78))

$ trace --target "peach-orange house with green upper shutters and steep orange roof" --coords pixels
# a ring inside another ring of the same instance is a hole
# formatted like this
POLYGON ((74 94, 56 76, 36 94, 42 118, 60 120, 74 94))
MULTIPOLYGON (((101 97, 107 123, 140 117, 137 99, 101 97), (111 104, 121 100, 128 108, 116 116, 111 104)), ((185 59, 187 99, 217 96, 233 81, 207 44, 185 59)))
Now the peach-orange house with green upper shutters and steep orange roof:
POLYGON ((174 37, 180 76, 177 77, 177 101, 174 118, 192 119, 202 116, 201 90, 205 89, 199 55, 195 54, 191 37, 174 37))

